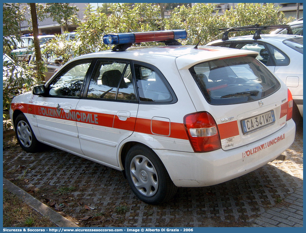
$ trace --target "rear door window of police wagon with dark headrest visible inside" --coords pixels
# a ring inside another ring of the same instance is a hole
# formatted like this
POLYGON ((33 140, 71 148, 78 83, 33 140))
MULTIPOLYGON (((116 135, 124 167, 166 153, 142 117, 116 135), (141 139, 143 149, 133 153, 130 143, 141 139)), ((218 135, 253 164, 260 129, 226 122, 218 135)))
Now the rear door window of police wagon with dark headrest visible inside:
POLYGON ((87 97, 136 101, 130 64, 99 61, 91 77, 87 97))

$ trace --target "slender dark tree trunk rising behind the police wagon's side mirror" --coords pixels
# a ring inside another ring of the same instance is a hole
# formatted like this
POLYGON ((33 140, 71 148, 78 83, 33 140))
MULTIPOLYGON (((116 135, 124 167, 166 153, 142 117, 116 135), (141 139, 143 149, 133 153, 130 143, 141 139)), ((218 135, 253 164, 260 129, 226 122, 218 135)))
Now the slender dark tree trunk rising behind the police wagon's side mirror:
POLYGON ((39 38, 38 38, 38 22, 37 22, 37 14, 36 14, 36 5, 35 3, 29 3, 31 9, 31 17, 32 17, 32 27, 33 27, 33 37, 34 37, 34 48, 35 48, 35 57, 36 57, 36 70, 37 76, 41 81, 45 81, 43 73, 41 70, 41 52, 39 46, 39 38))

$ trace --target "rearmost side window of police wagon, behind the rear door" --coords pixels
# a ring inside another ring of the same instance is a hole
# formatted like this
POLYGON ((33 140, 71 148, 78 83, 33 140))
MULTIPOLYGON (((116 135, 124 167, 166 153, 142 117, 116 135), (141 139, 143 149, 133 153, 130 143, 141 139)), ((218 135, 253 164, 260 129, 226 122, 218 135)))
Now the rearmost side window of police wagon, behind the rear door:
POLYGON ((141 102, 169 102, 172 95, 157 72, 151 68, 134 65, 141 102))

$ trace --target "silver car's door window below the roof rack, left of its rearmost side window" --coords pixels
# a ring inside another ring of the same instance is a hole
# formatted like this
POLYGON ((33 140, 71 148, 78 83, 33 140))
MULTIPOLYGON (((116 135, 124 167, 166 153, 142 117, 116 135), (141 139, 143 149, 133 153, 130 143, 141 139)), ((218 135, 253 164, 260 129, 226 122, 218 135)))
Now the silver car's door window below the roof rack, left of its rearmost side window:
POLYGON ((269 52, 267 51, 265 46, 263 46, 262 44, 259 44, 259 43, 237 43, 235 48, 258 52, 259 54, 256 57, 257 60, 261 61, 266 66, 273 66, 274 65, 273 60, 272 60, 269 52))

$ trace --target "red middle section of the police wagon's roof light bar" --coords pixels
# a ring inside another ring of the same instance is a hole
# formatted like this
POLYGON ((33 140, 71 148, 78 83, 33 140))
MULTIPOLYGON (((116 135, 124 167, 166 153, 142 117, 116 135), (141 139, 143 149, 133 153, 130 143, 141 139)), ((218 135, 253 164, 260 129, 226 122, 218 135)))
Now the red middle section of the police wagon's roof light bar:
POLYGON ((165 41, 174 39, 173 31, 157 31, 157 32, 136 32, 135 43, 165 41))

